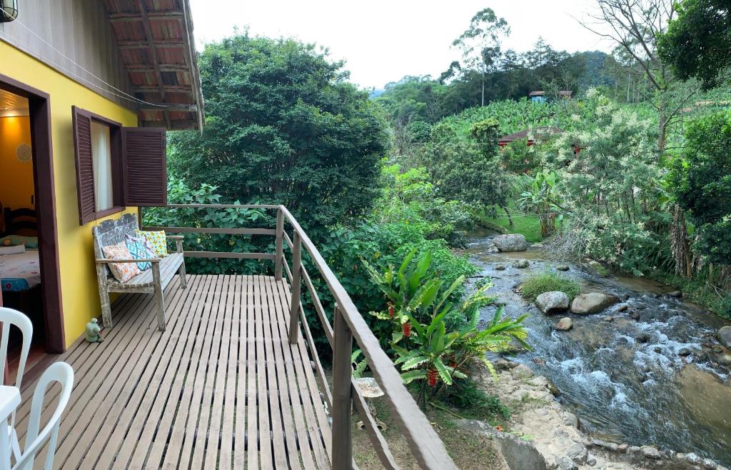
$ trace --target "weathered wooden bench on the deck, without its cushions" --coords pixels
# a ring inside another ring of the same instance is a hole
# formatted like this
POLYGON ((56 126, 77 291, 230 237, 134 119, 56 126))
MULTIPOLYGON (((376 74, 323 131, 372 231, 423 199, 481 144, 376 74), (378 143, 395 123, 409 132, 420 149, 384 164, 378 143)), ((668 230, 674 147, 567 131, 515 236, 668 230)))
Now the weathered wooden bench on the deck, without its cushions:
POLYGON ((99 297, 102 300, 102 322, 105 328, 112 327, 112 307, 110 292, 138 292, 154 294, 157 312, 157 326, 165 330, 164 289, 180 273, 181 287, 187 287, 185 275, 185 259, 183 257, 183 237, 168 235, 175 240, 176 251, 162 258, 152 259, 105 259, 103 246, 116 245, 124 241, 126 235, 135 235, 137 218, 132 214, 124 214, 120 219, 105 220, 92 229, 94 234, 94 255, 96 256, 96 277, 99 281, 99 297), (115 262, 151 262, 152 268, 144 270, 126 282, 117 281, 107 265, 115 262))

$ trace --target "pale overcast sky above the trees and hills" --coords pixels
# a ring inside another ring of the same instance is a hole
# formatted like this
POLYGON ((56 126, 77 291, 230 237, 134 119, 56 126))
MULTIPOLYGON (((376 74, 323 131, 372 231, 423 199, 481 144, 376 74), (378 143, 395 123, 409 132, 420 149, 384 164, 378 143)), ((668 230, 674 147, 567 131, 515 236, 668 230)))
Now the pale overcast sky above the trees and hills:
POLYGON ((504 48, 528 50, 543 37, 558 50, 605 50, 611 44, 575 18, 591 0, 191 0, 198 48, 249 26, 255 35, 295 37, 345 59, 354 83, 382 88, 404 75, 438 77, 459 53, 452 41, 475 12, 491 7, 512 29, 504 48))

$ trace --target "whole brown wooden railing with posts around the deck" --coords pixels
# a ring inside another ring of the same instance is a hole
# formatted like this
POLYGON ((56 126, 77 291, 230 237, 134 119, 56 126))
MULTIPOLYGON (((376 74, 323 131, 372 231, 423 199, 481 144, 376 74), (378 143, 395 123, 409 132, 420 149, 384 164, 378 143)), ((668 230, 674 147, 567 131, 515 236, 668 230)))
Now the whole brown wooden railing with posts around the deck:
MULTIPOLYGON (((414 398, 404 387, 401 375, 395 365, 381 348, 378 338, 374 336, 366 321, 358 312, 355 304, 344 287, 338 281, 333 270, 300 227, 298 221, 283 205, 178 205, 171 204, 168 208, 195 208, 195 209, 259 209, 276 211, 276 228, 216 228, 216 227, 145 227, 145 230, 165 230, 169 233, 213 233, 229 235, 270 235, 275 240, 274 253, 237 253, 227 251, 185 251, 186 257, 205 258, 238 258, 238 259, 270 259, 274 264, 274 276, 281 280, 287 276, 292 289, 289 305, 289 342, 298 341, 300 327, 305 335, 308 347, 313 357, 317 375, 320 381, 325 401, 330 409, 332 424, 332 452, 331 463, 333 469, 355 469, 352 458, 351 412, 355 406, 368 433, 369 439, 379 456, 382 465, 389 470, 398 469, 393 455, 383 438, 368 409, 368 403, 363 399, 360 390, 352 376, 351 354, 353 341, 357 344, 371 368, 376 382, 385 393, 385 399, 395 422, 401 429, 409 443, 409 447, 422 469, 450 470, 456 469, 452 458, 447 454, 442 440, 431 427, 431 424, 417 406, 414 398), (287 227, 292 235, 287 232, 287 227), (284 255, 284 243, 291 250, 292 259, 287 263, 284 255), (311 259, 311 264, 325 281, 330 295, 335 300, 333 311, 333 325, 327 319, 325 308, 319 299, 317 290, 302 262, 303 248, 311 259), (308 325, 302 305, 302 284, 308 290, 312 305, 317 313, 322 330, 333 349, 333 379, 332 389, 327 383, 325 371, 315 349, 314 338, 308 325)), ((140 208, 140 227, 142 227, 143 208, 140 208)))

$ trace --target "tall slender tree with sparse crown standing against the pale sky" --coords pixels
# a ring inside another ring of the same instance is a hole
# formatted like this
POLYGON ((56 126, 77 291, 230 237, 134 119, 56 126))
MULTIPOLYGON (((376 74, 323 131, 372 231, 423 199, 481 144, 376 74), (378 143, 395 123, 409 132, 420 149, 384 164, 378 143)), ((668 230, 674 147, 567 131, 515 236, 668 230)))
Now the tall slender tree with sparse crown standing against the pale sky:
MULTIPOLYGON (((491 8, 477 12, 460 37, 452 42, 452 46, 462 51, 463 65, 461 69, 473 69, 480 72, 481 99, 485 106, 485 77, 496 69, 500 57, 500 39, 510 34, 510 27, 505 18, 498 18, 491 8)), ((454 73, 455 63, 450 65, 454 73)))

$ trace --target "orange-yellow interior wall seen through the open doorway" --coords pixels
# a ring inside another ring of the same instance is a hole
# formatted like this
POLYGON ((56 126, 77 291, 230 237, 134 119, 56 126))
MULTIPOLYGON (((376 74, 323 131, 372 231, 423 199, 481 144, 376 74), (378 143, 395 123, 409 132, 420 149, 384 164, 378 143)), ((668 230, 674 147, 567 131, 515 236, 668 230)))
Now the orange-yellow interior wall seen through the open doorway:
POLYGON ((32 208, 33 164, 20 162, 18 145, 31 145, 28 116, 0 118, 0 202, 6 208, 32 208))

